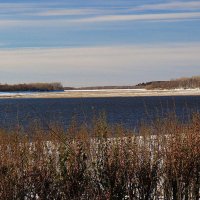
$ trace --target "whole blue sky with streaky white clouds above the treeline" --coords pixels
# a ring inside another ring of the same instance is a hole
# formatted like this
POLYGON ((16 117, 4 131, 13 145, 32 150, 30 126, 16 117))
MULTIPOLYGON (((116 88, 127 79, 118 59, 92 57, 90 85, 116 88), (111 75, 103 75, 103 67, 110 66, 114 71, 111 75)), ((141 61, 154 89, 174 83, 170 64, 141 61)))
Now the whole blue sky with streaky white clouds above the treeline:
POLYGON ((0 0, 0 83, 200 75, 200 0, 0 0))

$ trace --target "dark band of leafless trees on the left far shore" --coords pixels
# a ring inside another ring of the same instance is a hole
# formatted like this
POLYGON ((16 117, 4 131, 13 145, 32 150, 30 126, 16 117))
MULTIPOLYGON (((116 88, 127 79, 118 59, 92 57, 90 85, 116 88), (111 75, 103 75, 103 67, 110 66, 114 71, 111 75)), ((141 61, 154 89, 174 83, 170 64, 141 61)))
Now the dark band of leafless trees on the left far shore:
POLYGON ((48 91, 63 91, 61 83, 30 83, 30 84, 0 84, 0 92, 16 92, 16 91, 31 91, 31 92, 48 92, 48 91))

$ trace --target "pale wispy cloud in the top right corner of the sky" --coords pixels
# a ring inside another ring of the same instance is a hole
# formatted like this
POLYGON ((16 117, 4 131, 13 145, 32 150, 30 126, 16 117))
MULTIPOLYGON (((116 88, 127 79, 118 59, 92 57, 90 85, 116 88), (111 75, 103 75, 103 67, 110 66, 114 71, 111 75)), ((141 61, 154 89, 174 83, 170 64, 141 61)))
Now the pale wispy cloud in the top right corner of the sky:
POLYGON ((133 8, 132 10, 198 10, 200 9, 199 1, 175 1, 162 4, 146 4, 133 8))

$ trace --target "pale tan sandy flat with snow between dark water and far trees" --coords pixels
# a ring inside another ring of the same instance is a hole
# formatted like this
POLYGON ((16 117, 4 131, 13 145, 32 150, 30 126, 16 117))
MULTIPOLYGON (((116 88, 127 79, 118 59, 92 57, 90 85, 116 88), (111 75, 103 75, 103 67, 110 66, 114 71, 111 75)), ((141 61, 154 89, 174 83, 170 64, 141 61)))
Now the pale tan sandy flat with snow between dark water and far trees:
POLYGON ((145 90, 145 89, 108 89, 108 90, 67 90, 64 92, 18 92, 0 93, 0 98, 82 98, 82 97, 140 97, 140 96, 197 96, 200 89, 145 90))

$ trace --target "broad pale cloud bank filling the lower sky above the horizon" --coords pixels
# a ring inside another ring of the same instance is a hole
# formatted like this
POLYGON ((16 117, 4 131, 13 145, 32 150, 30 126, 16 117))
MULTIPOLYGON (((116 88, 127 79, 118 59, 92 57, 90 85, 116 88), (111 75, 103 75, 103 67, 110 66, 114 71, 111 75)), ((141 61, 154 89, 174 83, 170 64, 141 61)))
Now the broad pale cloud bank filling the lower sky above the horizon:
POLYGON ((105 79, 110 84, 133 83, 155 79, 156 74, 160 74, 157 79, 161 75, 168 75, 170 77, 165 78, 169 79, 183 72, 185 75, 200 74, 199 52, 200 43, 0 50, 0 70, 4 72, 0 79, 5 80, 10 73, 19 74, 18 79, 14 76, 18 82, 37 81, 39 75, 49 81, 56 79, 77 84, 84 78, 96 84, 105 79))

